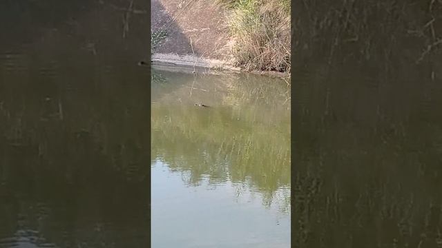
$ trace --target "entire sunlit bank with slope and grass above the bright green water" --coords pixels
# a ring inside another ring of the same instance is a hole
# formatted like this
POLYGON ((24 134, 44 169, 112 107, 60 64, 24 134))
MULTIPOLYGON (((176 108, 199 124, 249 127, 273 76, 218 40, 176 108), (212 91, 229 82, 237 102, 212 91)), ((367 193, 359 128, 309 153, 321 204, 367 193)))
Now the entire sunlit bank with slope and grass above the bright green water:
POLYGON ((279 8, 283 2, 152 0, 152 61, 289 78, 290 13, 279 8))

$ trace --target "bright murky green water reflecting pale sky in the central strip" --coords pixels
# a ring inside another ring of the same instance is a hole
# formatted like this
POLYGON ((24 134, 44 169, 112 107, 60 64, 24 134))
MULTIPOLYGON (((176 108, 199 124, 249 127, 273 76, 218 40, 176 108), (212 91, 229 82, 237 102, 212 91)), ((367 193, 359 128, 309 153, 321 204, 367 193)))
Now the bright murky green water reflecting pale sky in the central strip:
POLYGON ((157 69, 151 87, 152 247, 290 247, 287 84, 157 69))

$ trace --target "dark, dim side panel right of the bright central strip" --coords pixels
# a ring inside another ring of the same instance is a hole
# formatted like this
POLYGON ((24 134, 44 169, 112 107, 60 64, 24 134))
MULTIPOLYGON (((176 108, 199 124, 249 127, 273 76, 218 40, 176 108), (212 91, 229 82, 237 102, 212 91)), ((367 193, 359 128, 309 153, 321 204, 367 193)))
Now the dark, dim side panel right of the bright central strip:
POLYGON ((441 2, 292 3, 292 245, 442 247, 441 2))

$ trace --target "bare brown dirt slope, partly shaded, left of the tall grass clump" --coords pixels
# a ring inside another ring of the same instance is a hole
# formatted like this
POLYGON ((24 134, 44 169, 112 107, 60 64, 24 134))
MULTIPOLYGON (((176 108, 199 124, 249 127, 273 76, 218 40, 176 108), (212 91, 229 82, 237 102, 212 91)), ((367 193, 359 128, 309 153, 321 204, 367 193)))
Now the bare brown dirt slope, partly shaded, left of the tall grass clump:
POLYGON ((215 0, 151 0, 151 32, 167 32, 154 55, 195 55, 229 60, 224 14, 215 0))

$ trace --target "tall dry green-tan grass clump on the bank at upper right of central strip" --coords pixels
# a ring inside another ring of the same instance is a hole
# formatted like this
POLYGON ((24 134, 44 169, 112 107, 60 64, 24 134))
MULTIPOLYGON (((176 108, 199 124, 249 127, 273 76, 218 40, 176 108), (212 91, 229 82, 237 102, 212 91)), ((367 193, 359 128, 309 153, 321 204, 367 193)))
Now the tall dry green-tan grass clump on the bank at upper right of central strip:
POLYGON ((244 70, 289 72, 290 1, 219 0, 228 25, 236 66, 244 70))

